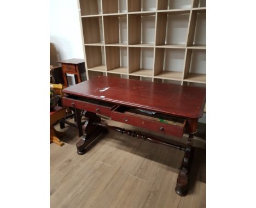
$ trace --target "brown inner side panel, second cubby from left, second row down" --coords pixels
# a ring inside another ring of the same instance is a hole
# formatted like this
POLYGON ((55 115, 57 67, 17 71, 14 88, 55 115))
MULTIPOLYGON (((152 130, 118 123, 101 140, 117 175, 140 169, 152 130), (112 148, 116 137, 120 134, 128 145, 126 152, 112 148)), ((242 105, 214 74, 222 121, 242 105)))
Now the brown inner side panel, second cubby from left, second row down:
POLYGON ((103 18, 105 44, 119 43, 118 16, 104 16, 103 18))

